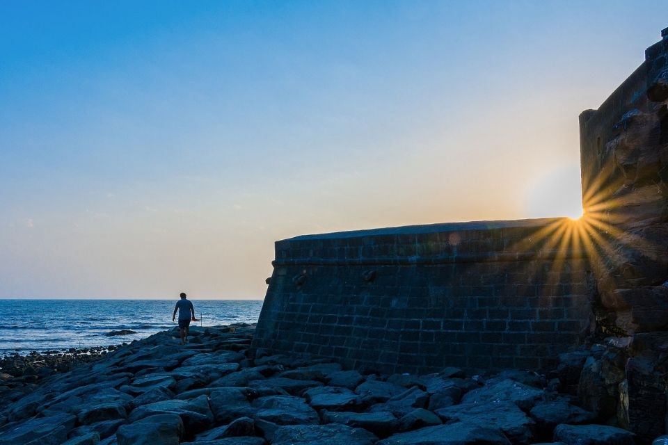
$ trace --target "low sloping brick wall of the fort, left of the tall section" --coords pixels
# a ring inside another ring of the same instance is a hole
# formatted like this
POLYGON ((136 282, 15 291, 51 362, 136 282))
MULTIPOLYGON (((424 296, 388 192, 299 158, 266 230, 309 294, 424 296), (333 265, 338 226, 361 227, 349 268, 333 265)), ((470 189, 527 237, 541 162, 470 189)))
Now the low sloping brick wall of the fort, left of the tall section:
POLYGON ((298 236, 253 341, 383 373, 540 369, 591 327, 591 273, 566 219, 298 236))

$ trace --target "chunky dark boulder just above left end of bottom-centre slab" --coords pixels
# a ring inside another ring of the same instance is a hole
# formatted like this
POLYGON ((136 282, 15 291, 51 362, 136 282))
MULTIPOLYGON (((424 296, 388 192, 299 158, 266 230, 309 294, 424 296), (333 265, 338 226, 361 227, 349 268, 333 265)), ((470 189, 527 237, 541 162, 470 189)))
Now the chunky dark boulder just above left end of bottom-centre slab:
POLYGON ((303 398, 294 396, 268 396, 253 401, 256 409, 253 419, 261 419, 278 425, 318 423, 318 413, 305 403, 303 398))

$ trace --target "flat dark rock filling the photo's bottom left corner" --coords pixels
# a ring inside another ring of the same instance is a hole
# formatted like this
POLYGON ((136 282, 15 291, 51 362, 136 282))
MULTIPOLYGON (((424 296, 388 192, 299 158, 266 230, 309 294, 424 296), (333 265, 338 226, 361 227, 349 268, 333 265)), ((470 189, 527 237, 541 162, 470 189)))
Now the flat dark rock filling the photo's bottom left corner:
POLYGON ((0 445, 61 444, 67 440, 67 433, 76 422, 77 417, 71 414, 56 414, 31 419, 18 426, 8 424, 0 428, 0 445))

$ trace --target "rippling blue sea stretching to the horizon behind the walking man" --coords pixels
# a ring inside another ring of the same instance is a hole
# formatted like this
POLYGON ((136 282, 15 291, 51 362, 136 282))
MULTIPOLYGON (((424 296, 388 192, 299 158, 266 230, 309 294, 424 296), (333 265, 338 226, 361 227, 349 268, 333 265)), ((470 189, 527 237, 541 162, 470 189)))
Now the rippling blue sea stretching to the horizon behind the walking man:
MULTIPOLYGON (((118 345, 177 326, 173 300, 0 300, 0 355, 118 345), (116 330, 136 334, 106 337, 116 330)), ((189 300, 191 300, 189 298, 189 300)), ((255 323, 262 300, 192 299, 198 326, 255 323)))

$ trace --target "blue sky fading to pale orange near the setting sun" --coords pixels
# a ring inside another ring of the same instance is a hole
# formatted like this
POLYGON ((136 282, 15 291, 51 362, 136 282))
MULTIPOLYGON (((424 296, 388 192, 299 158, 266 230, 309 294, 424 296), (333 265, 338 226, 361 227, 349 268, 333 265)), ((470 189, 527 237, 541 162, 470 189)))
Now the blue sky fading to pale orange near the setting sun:
POLYGON ((569 216, 657 1, 0 1, 0 298, 263 298, 273 242, 569 216))

